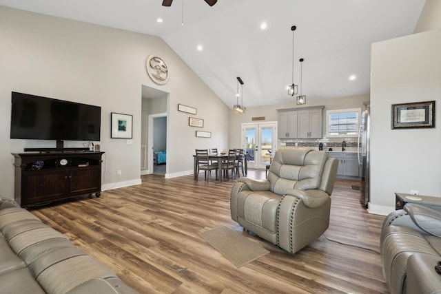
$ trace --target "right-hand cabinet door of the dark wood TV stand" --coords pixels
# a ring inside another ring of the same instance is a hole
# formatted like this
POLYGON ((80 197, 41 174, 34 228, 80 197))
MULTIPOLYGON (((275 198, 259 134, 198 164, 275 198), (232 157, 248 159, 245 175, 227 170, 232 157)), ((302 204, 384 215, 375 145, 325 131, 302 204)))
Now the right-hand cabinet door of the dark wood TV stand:
POLYGON ((72 168, 70 173, 70 195, 101 192, 101 167, 72 168))

